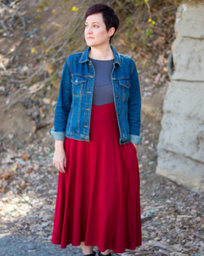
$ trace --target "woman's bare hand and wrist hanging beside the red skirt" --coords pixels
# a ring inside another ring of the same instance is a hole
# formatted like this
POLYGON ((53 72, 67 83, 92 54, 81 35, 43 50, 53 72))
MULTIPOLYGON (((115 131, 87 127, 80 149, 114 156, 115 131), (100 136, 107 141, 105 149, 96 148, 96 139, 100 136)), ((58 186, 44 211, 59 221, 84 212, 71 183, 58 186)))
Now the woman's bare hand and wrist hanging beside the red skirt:
POLYGON ((64 141, 55 141, 53 164, 59 172, 65 173, 66 156, 64 141))

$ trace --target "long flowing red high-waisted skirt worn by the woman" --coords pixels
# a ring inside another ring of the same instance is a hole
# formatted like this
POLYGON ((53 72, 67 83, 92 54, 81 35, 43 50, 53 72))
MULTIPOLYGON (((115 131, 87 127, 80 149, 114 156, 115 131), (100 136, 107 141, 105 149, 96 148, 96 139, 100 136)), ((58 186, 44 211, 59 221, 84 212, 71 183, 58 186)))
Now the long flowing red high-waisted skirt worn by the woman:
POLYGON ((89 135, 89 142, 65 137, 52 243, 135 250, 142 244, 137 150, 119 144, 114 102, 92 105, 89 135))

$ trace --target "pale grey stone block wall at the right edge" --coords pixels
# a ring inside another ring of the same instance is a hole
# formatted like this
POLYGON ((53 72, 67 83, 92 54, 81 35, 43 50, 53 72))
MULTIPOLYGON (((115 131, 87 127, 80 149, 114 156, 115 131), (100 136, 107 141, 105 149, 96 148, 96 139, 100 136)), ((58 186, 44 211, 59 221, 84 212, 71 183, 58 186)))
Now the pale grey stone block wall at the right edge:
MULTIPOLYGON (((204 4, 178 7, 156 173, 204 191, 204 4)), ((169 64, 168 63, 168 64, 169 64)))

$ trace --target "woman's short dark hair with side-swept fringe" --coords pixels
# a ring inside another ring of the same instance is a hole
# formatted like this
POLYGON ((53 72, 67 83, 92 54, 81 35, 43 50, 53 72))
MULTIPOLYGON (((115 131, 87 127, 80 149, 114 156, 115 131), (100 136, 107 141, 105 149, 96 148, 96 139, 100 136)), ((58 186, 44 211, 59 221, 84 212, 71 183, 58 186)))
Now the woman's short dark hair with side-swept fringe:
POLYGON ((109 29, 112 26, 115 27, 115 32, 111 36, 110 41, 109 41, 109 43, 111 44, 111 39, 115 35, 116 30, 119 26, 119 19, 118 19, 116 13, 114 12, 114 10, 109 5, 107 5, 105 3, 97 3, 97 4, 94 4, 91 7, 89 7, 85 14, 85 19, 87 19, 87 17, 89 15, 94 15, 94 14, 99 14, 99 13, 101 13, 103 16, 103 20, 104 20, 107 32, 109 31, 109 29))

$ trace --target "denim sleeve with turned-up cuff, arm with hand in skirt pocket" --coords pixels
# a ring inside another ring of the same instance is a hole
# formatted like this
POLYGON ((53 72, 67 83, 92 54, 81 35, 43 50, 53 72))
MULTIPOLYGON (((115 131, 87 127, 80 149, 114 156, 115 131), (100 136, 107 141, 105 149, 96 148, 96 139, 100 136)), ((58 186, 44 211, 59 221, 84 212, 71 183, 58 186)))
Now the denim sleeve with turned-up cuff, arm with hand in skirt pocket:
POLYGON ((143 137, 139 136, 141 95, 139 88, 139 76, 134 61, 131 67, 130 79, 131 86, 129 91, 127 118, 129 123, 130 141, 133 144, 138 145, 142 141, 143 137))

